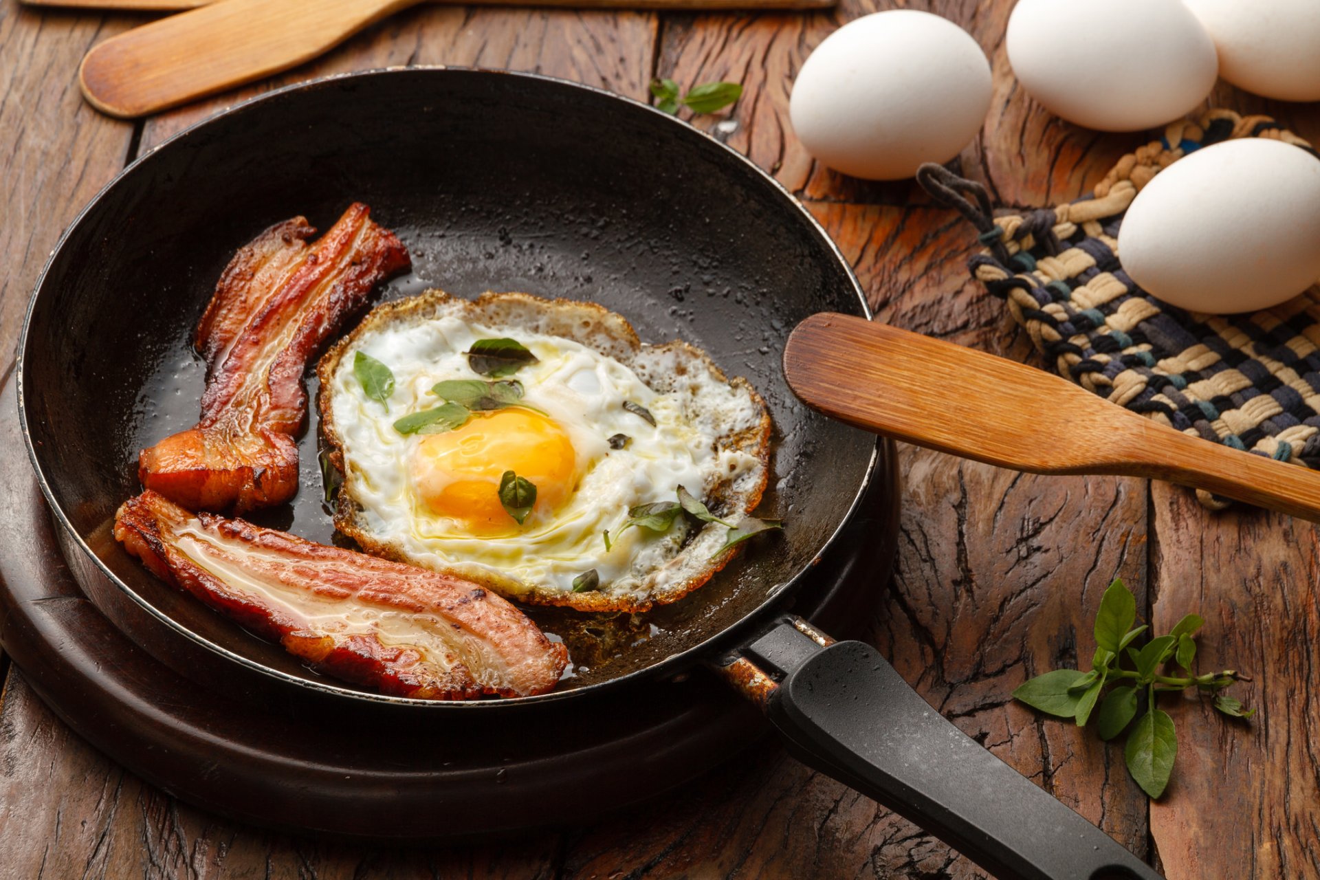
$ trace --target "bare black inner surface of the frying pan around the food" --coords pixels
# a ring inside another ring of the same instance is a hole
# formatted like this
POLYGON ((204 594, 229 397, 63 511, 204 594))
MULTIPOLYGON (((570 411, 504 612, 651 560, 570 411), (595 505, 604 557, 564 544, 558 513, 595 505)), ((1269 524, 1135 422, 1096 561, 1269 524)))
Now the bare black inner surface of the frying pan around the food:
MULTIPOLYGON (((529 610, 570 645, 562 687, 645 669, 734 625, 842 524, 874 438, 801 406, 780 358, 807 315, 863 306, 781 190, 690 127, 603 92, 511 74, 380 71, 279 92, 149 154, 77 220, 36 293, 21 391, 49 496, 100 563, 178 627, 323 681, 152 578, 111 521, 139 491, 139 449, 197 420, 203 368, 190 335, 235 249, 297 214, 325 230, 352 201, 413 255, 413 273, 383 298, 438 286, 599 302, 647 342, 700 346, 771 408, 762 511, 787 521, 784 534, 645 615, 529 610)), ((294 501, 251 519, 329 542, 315 422, 313 406, 294 501)))

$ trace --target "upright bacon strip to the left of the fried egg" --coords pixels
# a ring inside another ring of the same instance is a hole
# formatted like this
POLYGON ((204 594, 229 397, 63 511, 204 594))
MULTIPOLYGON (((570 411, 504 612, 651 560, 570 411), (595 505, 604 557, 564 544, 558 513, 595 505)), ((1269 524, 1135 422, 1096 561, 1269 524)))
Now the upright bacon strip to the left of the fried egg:
POLYGON ((308 359, 371 290, 408 268, 408 251, 354 203, 315 244, 305 218, 239 249, 194 339, 206 359, 202 418, 137 459, 137 474, 193 509, 243 513, 298 489, 293 435, 306 417, 308 359))

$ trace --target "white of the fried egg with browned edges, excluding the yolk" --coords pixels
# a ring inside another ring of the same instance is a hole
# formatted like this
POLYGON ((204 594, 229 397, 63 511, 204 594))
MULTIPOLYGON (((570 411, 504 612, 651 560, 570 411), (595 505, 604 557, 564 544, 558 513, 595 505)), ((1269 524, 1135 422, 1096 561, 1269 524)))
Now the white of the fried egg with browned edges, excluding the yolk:
POLYGON ((718 524, 697 530, 678 517, 663 534, 631 528, 610 549, 603 534, 618 533, 632 507, 676 500, 680 486, 726 517, 755 505, 766 482, 768 417, 746 383, 730 383, 681 343, 642 346, 627 322, 599 306, 525 294, 487 294, 474 303, 433 292, 421 299, 378 307, 322 361, 322 418, 343 474, 342 530, 368 550, 454 571, 506 595, 577 607, 671 600, 718 567, 711 562, 726 536, 718 524), (510 379, 523 384, 521 402, 568 434, 581 478, 558 511, 537 509, 507 536, 475 537, 417 496, 409 463, 425 435, 400 434, 393 422, 437 406, 436 383, 479 379, 463 352, 498 336, 536 355, 537 363, 510 379), (355 376, 358 351, 393 372, 385 401, 368 398, 355 376), (656 424, 624 409, 630 401, 656 424), (610 447, 614 434, 630 438, 624 449, 610 447), (574 594, 573 581, 593 569, 599 590, 574 594))

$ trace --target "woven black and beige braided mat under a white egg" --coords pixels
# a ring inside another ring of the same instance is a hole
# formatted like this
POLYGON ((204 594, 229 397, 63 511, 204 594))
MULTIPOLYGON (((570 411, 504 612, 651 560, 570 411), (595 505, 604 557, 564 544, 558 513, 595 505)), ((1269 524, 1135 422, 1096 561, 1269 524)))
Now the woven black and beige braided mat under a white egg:
POLYGON ((936 165, 917 179, 981 232, 986 249, 969 261, 972 274, 1006 301, 1059 375, 1187 434, 1320 468, 1320 289, 1255 314, 1208 315, 1147 294, 1119 263, 1118 227, 1142 186, 1232 137, 1315 153, 1266 116, 1213 110, 1125 156, 1092 198, 1053 208, 993 218, 979 183, 936 165))

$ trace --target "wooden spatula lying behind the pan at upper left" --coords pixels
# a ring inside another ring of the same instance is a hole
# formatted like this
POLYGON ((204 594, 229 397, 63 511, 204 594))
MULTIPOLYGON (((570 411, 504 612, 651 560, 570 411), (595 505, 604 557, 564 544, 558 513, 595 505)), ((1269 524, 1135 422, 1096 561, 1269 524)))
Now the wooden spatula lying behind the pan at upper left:
MULTIPOLYGON (((511 4, 527 0, 478 0, 511 4)), ((553 7, 805 9, 834 0, 536 0, 553 7)), ((141 0, 117 0, 132 5, 141 0)), ((420 0, 218 0, 96 45, 79 84, 96 110, 131 119, 310 61, 420 0)), ((158 7, 154 7, 158 8, 158 7)))

